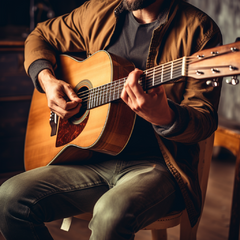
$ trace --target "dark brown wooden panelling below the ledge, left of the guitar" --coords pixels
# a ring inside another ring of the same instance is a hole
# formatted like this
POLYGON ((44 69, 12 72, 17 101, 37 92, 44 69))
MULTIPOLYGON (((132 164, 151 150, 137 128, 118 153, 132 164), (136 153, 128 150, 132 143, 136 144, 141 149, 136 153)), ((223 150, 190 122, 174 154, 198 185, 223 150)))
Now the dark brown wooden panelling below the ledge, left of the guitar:
POLYGON ((32 92, 32 81, 23 68, 23 42, 16 46, 0 42, 0 173, 24 169, 32 92))

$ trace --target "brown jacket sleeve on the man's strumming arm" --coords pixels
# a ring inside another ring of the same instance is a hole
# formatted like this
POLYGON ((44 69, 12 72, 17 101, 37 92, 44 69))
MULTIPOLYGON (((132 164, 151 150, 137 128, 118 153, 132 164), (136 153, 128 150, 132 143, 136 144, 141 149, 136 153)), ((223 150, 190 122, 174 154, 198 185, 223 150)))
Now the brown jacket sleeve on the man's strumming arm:
POLYGON ((25 70, 36 60, 44 59, 56 67, 56 54, 85 51, 81 22, 87 3, 69 14, 39 23, 25 41, 25 70))

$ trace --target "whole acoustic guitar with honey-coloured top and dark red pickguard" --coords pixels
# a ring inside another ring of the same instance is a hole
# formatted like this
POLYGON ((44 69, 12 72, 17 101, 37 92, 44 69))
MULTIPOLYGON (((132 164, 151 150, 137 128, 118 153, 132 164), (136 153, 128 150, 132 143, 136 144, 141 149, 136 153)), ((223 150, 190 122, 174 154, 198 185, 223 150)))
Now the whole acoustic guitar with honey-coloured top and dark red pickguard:
MULTIPOLYGON (((217 86, 217 78, 240 74, 240 42, 197 52, 144 71, 139 84, 145 91, 181 77, 203 79, 217 86), (212 79, 212 80, 209 80, 212 79)), ((26 170, 85 160, 92 151, 119 154, 127 145, 135 113, 120 99, 134 65, 106 51, 79 61, 60 55, 57 76, 68 82, 82 99, 80 112, 62 120, 51 113, 45 94, 34 90, 26 139, 26 170)))

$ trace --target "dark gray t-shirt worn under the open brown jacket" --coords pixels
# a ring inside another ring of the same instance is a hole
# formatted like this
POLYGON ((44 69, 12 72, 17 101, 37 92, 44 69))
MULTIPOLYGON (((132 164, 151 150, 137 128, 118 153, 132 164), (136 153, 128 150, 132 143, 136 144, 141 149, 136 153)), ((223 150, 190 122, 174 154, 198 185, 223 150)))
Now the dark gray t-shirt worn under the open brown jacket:
MULTIPOLYGON (((135 67, 145 70, 149 45, 160 19, 141 24, 131 12, 126 12, 116 26, 114 35, 106 50, 134 63, 135 67)), ((149 159, 161 158, 161 152, 154 136, 152 124, 137 116, 130 141, 117 158, 149 159)))

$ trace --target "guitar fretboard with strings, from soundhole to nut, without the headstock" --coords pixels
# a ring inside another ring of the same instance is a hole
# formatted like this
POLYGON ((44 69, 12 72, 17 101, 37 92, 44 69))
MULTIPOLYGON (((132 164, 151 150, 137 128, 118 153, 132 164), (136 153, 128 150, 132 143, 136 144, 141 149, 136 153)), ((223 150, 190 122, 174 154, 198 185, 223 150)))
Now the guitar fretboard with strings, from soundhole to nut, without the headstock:
MULTIPOLYGON (((144 91, 147 91, 163 83, 186 76, 186 74, 186 57, 183 57, 143 71, 138 83, 144 91)), ((79 97, 83 100, 82 104, 87 109, 92 109, 120 99, 126 80, 127 77, 117 79, 111 83, 81 92, 79 97)))

